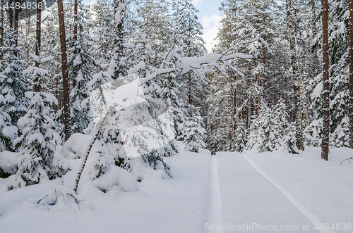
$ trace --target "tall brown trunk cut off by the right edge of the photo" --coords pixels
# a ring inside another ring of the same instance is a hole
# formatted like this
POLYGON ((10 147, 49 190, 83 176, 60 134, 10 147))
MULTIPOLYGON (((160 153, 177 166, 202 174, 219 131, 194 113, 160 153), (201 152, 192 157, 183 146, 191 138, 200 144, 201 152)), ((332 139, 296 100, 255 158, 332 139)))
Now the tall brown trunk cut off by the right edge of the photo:
POLYGON ((349 0, 349 146, 353 149, 353 0, 349 0))

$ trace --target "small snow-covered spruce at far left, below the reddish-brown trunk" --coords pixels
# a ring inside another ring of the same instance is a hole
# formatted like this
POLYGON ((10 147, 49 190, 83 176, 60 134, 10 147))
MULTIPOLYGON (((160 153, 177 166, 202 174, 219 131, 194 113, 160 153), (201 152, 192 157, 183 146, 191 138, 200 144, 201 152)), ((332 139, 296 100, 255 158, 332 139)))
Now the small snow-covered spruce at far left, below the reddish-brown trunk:
POLYGON ((61 175, 61 166, 54 163, 56 123, 50 118, 52 104, 57 104, 52 94, 26 92, 30 100, 27 114, 18 120, 23 134, 13 144, 18 152, 18 170, 7 182, 8 189, 37 184, 61 175))

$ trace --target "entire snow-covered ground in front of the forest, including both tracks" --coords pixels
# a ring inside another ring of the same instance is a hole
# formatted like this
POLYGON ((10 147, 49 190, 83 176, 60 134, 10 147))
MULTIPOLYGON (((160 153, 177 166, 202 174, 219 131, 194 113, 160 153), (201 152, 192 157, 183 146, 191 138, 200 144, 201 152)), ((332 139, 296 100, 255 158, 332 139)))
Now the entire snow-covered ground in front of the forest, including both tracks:
POLYGON ((353 152, 320 152, 181 151, 166 160, 172 179, 150 171, 136 191, 107 193, 83 182, 79 205, 60 180, 6 191, 0 179, 0 232, 352 232, 353 164, 338 165, 353 152))

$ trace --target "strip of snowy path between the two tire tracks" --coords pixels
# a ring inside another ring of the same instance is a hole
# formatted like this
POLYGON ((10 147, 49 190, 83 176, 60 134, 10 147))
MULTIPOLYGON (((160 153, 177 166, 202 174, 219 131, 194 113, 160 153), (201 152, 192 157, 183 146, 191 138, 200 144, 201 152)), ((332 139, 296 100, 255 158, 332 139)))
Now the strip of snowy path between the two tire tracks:
POLYGON ((275 232, 276 229, 318 232, 306 215, 240 153, 218 152, 215 157, 222 196, 222 225, 229 227, 223 232, 231 227, 237 230, 239 226, 251 232, 275 232))

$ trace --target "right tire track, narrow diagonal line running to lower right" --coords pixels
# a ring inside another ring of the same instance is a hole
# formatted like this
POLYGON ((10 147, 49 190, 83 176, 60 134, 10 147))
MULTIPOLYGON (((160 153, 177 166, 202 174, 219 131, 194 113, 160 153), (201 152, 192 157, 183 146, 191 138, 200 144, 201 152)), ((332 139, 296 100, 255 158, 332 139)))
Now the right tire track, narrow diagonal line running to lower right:
MULTIPOLYGON (((270 181, 277 189, 280 190, 280 192, 288 199, 288 201, 290 201, 293 206, 295 208, 297 208, 303 215, 306 216, 306 218, 308 218, 308 220, 313 224, 313 225, 321 225, 321 223, 323 223, 323 221, 318 218, 314 213, 311 212, 311 210, 309 210, 308 208, 306 208, 306 206, 304 206, 303 204, 301 204, 299 201, 297 201, 297 199, 294 198, 294 196, 287 191, 285 188, 283 188, 282 186, 280 186, 280 184, 277 184, 277 182, 275 182, 274 180, 272 180, 263 170, 261 170, 260 168, 258 168, 258 166, 253 163, 252 160, 250 160, 250 158, 248 158, 246 155, 242 154, 242 156, 246 159, 246 161, 253 166, 253 168, 260 173, 263 177, 265 177, 268 181, 270 181)), ((325 229, 319 229, 319 231, 321 233, 333 233, 330 230, 325 230, 325 229)))

